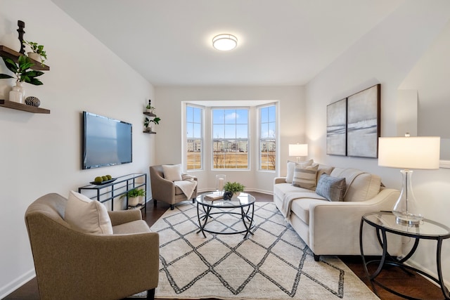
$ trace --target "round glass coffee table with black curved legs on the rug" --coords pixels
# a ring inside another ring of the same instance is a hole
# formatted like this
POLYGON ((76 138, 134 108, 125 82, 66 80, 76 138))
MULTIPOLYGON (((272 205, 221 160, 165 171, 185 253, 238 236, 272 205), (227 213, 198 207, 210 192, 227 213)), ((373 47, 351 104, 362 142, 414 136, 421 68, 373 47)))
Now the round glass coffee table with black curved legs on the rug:
POLYGON ((203 236, 206 237, 205 231, 207 233, 215 233, 220 235, 234 235, 237 233, 245 233, 244 238, 250 233, 253 234, 250 230, 255 226, 255 222, 253 221, 253 216, 255 214, 255 197, 248 193, 240 193, 238 197, 233 197, 231 200, 207 200, 205 195, 199 195, 195 198, 197 202, 197 216, 198 216, 198 230, 197 233, 203 233, 203 236), (214 209, 214 211, 212 211, 214 209), (234 210, 234 211, 233 211, 234 210), (237 212, 237 211, 238 212, 237 212), (208 221, 217 222, 217 219, 214 218, 213 215, 221 215, 221 214, 232 214, 240 216, 240 220, 244 225, 244 230, 212 230, 207 229, 208 221))

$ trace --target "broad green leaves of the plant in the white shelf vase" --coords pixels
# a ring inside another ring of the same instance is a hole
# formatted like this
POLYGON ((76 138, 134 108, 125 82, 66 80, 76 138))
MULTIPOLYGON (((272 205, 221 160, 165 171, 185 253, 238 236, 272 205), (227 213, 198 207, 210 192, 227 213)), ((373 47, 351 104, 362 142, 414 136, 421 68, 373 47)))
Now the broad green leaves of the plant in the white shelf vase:
POLYGON ((11 58, 3 58, 3 61, 8 70, 14 73, 14 77, 8 74, 0 74, 0 79, 15 78, 17 81, 26 82, 35 86, 42 84, 36 77, 41 76, 44 72, 29 70, 34 63, 31 62, 28 56, 19 56, 17 65, 11 58))

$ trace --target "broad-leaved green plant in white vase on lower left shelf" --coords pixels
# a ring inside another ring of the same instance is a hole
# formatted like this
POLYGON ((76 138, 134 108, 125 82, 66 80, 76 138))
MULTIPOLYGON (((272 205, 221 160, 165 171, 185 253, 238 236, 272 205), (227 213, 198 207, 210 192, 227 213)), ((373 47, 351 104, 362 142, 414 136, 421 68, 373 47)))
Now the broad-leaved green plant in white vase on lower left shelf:
POLYGON ((18 63, 14 63, 11 58, 3 58, 3 61, 11 72, 13 76, 8 74, 0 74, 0 79, 15 78, 15 86, 13 90, 9 93, 9 100, 23 103, 25 98, 25 90, 23 89, 22 83, 33 84, 35 86, 40 86, 42 82, 36 77, 41 76, 44 72, 30 70, 30 67, 34 65, 28 56, 19 56, 18 63))

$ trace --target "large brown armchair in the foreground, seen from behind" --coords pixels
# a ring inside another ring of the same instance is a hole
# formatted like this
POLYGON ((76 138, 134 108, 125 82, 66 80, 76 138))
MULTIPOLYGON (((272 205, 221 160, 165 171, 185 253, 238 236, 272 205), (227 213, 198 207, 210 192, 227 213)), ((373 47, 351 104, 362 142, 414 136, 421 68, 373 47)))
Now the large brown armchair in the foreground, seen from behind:
POLYGON ((122 299, 158 286, 159 235, 141 211, 108 211, 113 235, 81 233, 64 220, 67 199, 47 194, 25 223, 40 299, 122 299))

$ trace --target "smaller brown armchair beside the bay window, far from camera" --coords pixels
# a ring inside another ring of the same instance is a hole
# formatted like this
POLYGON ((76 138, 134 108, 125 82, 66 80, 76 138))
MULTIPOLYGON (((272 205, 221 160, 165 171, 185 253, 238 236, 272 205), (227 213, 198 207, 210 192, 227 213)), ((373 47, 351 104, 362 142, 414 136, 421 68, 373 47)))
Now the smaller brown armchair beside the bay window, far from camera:
MULTIPOLYGON (((186 174, 184 174, 184 176, 186 176, 186 174)), ((197 181, 197 177, 189 177, 197 181)), ((174 204, 191 199, 192 202, 195 202, 195 197, 197 197, 197 186, 195 186, 191 198, 188 199, 183 191, 175 186, 172 181, 165 179, 162 165, 150 167, 150 185, 152 188, 153 204, 155 206, 157 201, 162 201, 170 204, 170 209, 174 209, 174 204)))

